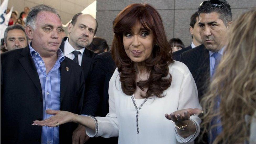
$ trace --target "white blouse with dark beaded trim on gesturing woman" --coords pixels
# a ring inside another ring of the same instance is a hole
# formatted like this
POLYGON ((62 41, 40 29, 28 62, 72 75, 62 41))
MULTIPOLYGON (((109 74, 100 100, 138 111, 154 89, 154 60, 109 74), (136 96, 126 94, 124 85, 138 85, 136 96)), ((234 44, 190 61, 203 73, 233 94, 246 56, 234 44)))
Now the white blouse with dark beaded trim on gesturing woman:
MULTIPOLYGON (((137 110, 132 100, 134 96, 122 92, 119 72, 116 69, 109 82, 109 113, 106 117, 95 117, 98 133, 87 129, 87 135, 93 137, 97 133, 96 136, 105 138, 119 136, 119 144, 194 143, 201 123, 197 115, 190 116, 196 125, 196 132, 187 138, 179 136, 175 125, 164 115, 186 108, 202 109, 195 81, 188 67, 179 61, 169 65, 169 73, 172 75, 172 83, 163 92, 165 96, 148 98, 138 110, 136 122, 137 110)), ((144 100, 134 99, 137 109, 144 100)))

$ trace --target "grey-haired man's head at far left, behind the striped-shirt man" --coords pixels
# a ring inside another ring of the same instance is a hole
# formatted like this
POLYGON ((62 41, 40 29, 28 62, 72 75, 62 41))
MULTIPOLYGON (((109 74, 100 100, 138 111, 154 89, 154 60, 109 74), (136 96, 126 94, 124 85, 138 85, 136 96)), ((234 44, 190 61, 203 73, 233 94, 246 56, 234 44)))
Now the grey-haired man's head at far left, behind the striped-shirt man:
POLYGON ((4 31, 4 46, 10 51, 28 45, 28 36, 21 25, 11 25, 4 31))

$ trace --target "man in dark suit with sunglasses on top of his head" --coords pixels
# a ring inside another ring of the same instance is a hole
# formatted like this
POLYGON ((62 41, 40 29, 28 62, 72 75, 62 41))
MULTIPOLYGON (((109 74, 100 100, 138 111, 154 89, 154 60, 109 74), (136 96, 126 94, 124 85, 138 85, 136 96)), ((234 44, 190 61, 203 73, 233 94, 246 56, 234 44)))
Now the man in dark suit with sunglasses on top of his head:
MULTIPOLYGON (((183 52, 180 61, 185 63, 192 73, 198 88, 199 100, 201 100, 223 55, 227 43, 226 34, 232 23, 232 13, 230 5, 225 0, 202 2, 198 13, 203 44, 183 52)), ((219 103, 219 101, 216 102, 216 109, 219 103)), ((211 143, 221 130, 221 127, 216 127, 209 134, 209 138, 204 140, 211 143)))

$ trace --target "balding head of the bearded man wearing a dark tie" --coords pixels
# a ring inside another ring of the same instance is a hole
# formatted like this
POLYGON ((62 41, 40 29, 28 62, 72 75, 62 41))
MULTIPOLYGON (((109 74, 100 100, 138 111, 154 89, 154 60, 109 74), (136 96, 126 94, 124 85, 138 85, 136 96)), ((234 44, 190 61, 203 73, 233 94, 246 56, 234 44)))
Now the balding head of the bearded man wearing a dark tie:
POLYGON ((74 15, 71 23, 68 24, 68 42, 79 50, 92 43, 97 31, 97 21, 89 14, 78 13, 74 15))

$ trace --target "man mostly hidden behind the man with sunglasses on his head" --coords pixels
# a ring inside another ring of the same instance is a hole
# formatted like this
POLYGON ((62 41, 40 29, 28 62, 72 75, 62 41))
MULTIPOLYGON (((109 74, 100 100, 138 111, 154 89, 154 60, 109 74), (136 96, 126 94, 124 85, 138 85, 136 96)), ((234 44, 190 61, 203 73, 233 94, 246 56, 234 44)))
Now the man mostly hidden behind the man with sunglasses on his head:
POLYGON ((189 31, 190 31, 190 34, 192 35, 193 41, 191 45, 189 45, 188 47, 185 47, 184 49, 173 52, 173 59, 176 61, 180 61, 180 55, 183 52, 193 49, 202 44, 201 36, 199 33, 198 12, 195 12, 193 15, 191 15, 189 31))

